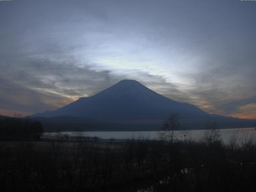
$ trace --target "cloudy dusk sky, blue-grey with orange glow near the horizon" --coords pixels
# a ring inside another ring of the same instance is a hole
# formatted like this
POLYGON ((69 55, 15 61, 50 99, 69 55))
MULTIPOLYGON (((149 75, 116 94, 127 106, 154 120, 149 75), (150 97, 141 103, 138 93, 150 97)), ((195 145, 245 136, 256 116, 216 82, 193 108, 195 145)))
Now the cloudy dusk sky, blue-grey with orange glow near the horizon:
POLYGON ((256 118, 256 1, 0 1, 0 114, 55 110, 123 79, 256 118))

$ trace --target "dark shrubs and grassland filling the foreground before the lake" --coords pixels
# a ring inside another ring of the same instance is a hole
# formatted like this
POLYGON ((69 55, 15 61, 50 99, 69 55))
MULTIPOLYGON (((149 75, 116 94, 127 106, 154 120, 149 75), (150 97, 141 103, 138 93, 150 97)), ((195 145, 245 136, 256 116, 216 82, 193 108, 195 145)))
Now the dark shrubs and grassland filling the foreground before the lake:
MULTIPOLYGON (((174 136, 168 132, 169 136, 174 136)), ((256 144, 218 130, 197 142, 76 141, 62 134, 43 141, 0 142, 1 191, 227 192, 256 190, 256 144)), ((174 138, 174 137, 173 137, 174 138)))

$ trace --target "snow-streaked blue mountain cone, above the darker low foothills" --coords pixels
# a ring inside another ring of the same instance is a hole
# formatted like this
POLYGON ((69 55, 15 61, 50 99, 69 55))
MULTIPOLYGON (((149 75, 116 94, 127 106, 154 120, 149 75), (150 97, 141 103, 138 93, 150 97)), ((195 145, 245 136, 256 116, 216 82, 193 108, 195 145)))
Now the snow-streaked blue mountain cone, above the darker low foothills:
POLYGON ((163 120, 170 113, 180 118, 204 118, 208 113, 196 106, 166 98, 135 80, 122 80, 87 98, 80 98, 52 112, 32 117, 78 116, 107 122, 163 120))

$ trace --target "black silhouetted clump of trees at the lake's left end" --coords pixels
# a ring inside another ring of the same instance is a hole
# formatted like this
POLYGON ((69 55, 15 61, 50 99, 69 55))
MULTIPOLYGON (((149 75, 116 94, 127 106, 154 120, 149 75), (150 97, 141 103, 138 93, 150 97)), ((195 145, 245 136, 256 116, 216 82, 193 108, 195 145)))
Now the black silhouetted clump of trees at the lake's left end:
POLYGON ((28 118, 0 119, 1 140, 39 140, 43 132, 39 121, 28 118))

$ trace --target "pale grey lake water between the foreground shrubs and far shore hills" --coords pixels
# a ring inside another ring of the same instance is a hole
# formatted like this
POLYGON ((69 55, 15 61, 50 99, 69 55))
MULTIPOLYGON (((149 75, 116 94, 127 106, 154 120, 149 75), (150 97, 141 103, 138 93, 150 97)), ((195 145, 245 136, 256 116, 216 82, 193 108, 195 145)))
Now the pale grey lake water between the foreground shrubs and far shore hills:
MULTIPOLYGON (((224 143, 228 143, 230 138, 236 137, 238 141, 242 140, 256 140, 256 129, 255 128, 236 128, 236 129, 220 129, 220 135, 224 143)), ((162 132, 162 131, 160 131, 162 132)), ((206 130, 186 130, 182 132, 175 132, 178 140, 198 140, 200 139, 206 130)), ((61 132, 62 134, 68 134, 69 136, 75 136, 75 132, 61 132)), ((154 140, 158 138, 159 131, 95 131, 95 132, 81 132, 84 136, 98 137, 103 140, 109 140, 114 138, 115 140, 126 140, 126 139, 150 139, 154 140)), ((45 133, 44 137, 51 136, 56 133, 45 133)))

